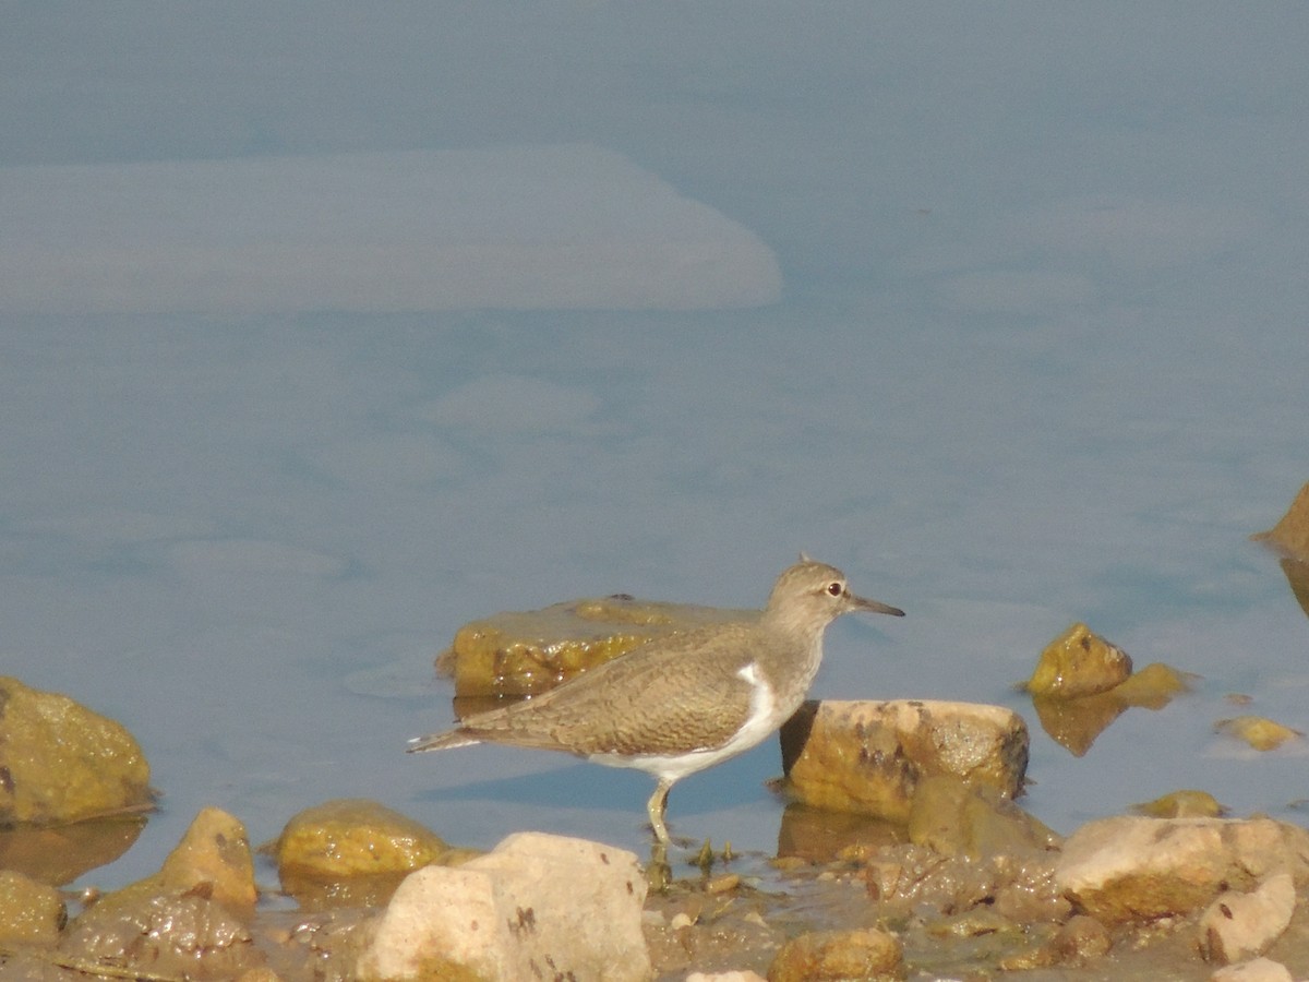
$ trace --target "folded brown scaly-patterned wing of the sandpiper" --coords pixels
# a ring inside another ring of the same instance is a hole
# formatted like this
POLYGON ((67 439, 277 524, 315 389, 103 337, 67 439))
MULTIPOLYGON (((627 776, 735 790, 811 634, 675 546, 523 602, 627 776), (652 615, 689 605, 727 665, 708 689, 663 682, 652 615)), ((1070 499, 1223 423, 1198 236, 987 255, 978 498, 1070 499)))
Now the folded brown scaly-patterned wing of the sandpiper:
POLYGON ((751 638, 751 625, 720 625, 658 639, 454 733, 584 757, 721 746, 750 714, 753 686, 740 672, 751 638))

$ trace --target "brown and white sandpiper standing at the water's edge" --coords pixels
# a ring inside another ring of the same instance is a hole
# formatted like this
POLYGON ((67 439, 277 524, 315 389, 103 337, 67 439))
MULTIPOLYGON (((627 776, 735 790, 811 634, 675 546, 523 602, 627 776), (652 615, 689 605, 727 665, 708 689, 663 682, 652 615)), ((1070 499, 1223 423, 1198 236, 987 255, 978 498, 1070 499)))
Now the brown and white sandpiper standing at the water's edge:
POLYGON ((491 742, 645 771, 656 779, 647 816, 668 845, 673 784, 785 723, 818 673, 827 625, 848 613, 905 615, 851 593, 840 570, 801 554, 758 617, 653 639, 541 695, 415 737, 408 753, 491 742))

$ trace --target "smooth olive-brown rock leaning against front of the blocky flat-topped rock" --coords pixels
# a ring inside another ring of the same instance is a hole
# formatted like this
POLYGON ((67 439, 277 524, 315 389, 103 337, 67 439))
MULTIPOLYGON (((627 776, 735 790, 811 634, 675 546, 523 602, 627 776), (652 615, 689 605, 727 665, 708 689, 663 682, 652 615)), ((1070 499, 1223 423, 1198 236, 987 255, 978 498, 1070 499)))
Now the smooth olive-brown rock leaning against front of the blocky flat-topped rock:
POLYGON ((919 782, 908 838, 946 856, 970 859, 1055 848, 1059 837, 986 784, 935 775, 919 782))

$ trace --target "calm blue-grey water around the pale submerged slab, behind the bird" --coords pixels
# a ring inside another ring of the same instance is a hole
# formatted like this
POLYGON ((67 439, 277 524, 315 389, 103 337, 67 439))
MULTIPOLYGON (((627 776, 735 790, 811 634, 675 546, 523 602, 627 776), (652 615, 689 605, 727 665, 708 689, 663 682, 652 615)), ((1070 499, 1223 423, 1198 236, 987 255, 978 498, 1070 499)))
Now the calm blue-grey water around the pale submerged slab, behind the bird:
MULTIPOLYGON (((814 694, 1012 706, 1055 829, 1179 787, 1302 820, 1302 750, 1211 732, 1228 693, 1309 731, 1309 623, 1246 541, 1309 479, 1299 8, 207 9, 26 14, 0 164, 581 140, 758 234, 783 293, 0 300, 0 670, 120 720, 164 792, 88 880, 156 868, 204 804, 262 841, 338 796, 641 848, 644 775, 404 755, 450 720, 432 659, 576 596, 758 606, 798 550, 908 611, 838 622, 814 694), (1073 619, 1203 681, 1073 758, 1012 689, 1073 619)), ((674 833, 774 847, 779 770, 770 742, 689 778, 674 833)))

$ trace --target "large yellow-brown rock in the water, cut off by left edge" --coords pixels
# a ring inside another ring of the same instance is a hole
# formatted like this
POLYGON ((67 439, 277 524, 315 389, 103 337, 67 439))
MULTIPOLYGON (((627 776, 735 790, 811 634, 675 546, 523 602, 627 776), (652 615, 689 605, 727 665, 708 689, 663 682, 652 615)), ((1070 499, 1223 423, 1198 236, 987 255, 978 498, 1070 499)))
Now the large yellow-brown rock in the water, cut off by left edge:
POLYGON ((118 723, 0 676, 0 825, 145 808, 149 780, 141 748, 118 723))

